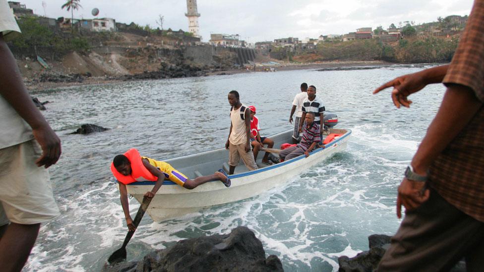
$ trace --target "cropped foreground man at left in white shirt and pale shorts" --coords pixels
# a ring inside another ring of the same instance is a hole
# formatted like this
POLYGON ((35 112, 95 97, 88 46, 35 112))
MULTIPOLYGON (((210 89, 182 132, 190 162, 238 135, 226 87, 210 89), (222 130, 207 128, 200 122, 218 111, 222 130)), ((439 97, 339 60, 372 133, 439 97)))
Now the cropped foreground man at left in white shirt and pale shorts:
POLYGON ((21 271, 40 224, 59 216, 49 172, 60 139, 34 105, 6 38, 20 32, 0 0, 0 268, 21 271))

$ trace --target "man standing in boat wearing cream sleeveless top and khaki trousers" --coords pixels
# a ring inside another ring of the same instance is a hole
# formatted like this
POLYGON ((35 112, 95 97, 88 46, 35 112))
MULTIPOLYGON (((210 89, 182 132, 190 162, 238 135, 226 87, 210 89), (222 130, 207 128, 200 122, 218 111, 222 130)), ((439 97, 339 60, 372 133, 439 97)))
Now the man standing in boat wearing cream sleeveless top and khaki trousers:
POLYGON ((257 169, 254 155, 250 152, 250 110, 242 105, 239 92, 230 91, 230 131, 225 148, 229 150, 229 174, 233 174, 241 158, 245 166, 257 169))

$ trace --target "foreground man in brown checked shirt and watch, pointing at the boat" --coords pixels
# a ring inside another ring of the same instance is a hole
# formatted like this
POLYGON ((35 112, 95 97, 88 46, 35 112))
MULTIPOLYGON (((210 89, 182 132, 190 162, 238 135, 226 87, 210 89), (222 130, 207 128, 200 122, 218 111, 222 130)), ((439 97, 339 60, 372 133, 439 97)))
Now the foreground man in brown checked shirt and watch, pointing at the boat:
POLYGON ((476 0, 450 65, 395 78, 393 103, 427 84, 447 90, 398 187, 406 215, 378 271, 449 271, 465 258, 484 268, 484 0, 476 0))

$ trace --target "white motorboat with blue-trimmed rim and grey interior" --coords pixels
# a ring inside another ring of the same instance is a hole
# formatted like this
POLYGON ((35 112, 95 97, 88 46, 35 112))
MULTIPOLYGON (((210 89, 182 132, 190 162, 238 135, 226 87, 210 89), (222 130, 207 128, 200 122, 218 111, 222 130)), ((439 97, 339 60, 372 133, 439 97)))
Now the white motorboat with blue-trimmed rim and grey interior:
MULTIPOLYGON (((269 137, 274 140, 274 146, 279 147, 283 143, 292 143, 292 132, 291 129, 269 137)), ((165 180, 163 186, 151 201, 147 212, 154 221, 159 222, 193 213, 206 207, 247 199, 281 186, 314 164, 346 149, 351 130, 330 128, 325 133, 326 135, 323 135, 323 138, 331 133, 342 135, 335 137, 333 141, 326 144, 324 149, 313 150, 307 158, 302 155, 289 161, 267 165, 261 163, 264 152, 260 151, 259 160, 257 160, 259 169, 248 171, 241 162, 236 167, 235 173, 229 176, 232 181, 230 188, 226 188, 222 182, 217 180, 188 190, 172 181, 165 180)), ((213 174, 220 168, 228 173, 228 159, 228 151, 225 148, 220 148, 164 161, 170 163, 190 179, 194 179, 200 175, 213 174)), ((141 203, 143 195, 151 190, 154 184, 153 181, 141 181, 126 185, 126 187, 127 192, 141 203)))

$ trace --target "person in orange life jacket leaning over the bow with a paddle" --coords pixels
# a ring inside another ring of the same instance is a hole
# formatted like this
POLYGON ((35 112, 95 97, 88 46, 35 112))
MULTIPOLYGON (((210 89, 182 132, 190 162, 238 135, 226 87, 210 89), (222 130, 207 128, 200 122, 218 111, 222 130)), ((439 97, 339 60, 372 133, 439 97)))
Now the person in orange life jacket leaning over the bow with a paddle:
POLYGON ((193 180, 177 171, 169 163, 155 161, 147 157, 141 157, 139 152, 132 148, 124 155, 117 155, 111 163, 111 171, 120 185, 121 207, 126 218, 129 230, 136 227, 129 215, 129 205, 126 185, 136 181, 156 181, 153 189, 144 195, 153 198, 160 189, 164 180, 171 180, 186 189, 193 189, 198 185, 212 180, 220 180, 226 187, 230 187, 231 181, 223 169, 219 169, 213 175, 199 176, 193 180))

